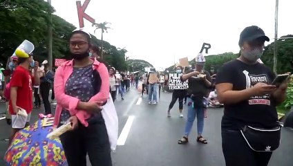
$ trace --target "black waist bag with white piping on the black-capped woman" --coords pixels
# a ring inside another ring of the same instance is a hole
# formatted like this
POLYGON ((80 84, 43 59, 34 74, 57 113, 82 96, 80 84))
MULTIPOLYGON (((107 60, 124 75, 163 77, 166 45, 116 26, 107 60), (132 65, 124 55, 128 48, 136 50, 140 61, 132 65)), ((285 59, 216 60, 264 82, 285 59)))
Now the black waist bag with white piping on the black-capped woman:
POLYGON ((254 151, 274 151, 280 145, 280 126, 273 129, 245 126, 240 131, 248 146, 254 151))

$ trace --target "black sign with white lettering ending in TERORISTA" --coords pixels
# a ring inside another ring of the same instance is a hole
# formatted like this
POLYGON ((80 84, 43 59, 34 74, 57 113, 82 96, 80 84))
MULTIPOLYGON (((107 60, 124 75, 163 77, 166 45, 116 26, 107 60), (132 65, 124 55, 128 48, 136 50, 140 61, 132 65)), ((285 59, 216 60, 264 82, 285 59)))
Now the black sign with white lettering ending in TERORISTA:
POLYGON ((188 89, 188 80, 182 82, 180 76, 182 73, 169 73, 168 86, 170 90, 173 89, 188 89))

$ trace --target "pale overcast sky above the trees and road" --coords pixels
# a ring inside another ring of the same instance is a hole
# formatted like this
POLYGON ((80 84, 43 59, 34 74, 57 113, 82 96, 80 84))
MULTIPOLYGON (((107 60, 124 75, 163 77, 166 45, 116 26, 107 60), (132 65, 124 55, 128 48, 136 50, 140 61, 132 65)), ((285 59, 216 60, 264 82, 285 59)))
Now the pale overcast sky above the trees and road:
MULTIPOLYGON (((204 55, 238 53, 239 35, 247 26, 259 26, 272 42, 275 5, 275 0, 91 0, 86 13, 97 23, 111 23, 104 40, 160 69, 182 57, 193 59, 203 42, 211 44, 204 55)), ((55 15, 79 27, 76 0, 52 0, 52 6, 55 15)), ((278 37, 293 34, 292 6, 292 0, 279 1, 278 37)), ((84 25, 101 38, 86 19, 84 25)))

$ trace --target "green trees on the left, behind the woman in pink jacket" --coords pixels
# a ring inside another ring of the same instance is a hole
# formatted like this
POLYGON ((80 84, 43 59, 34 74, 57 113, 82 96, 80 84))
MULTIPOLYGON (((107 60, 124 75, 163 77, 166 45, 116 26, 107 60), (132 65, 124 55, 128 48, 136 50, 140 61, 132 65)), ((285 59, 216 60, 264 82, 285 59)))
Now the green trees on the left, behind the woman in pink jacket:
MULTIPOLYGON (((48 24, 50 13, 54 11, 43 0, 0 0, 0 62, 5 64, 24 39, 35 45, 34 58, 37 61, 48 59, 48 24)), ((108 28, 106 24, 102 25, 103 30, 108 28)), ((68 38, 76 27, 57 15, 52 15, 52 26, 53 62, 55 58, 70 59, 68 38)), ((103 46, 104 59, 108 64, 118 70, 127 68, 125 48, 119 50, 93 35, 91 42, 103 46)))

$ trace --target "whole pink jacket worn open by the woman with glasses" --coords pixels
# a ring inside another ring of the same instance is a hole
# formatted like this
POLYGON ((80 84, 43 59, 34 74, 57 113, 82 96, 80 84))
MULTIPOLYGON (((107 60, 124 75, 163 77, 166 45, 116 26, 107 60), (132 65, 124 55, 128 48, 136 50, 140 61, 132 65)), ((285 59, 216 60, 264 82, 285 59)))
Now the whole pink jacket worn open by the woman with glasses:
MULTIPOLYGON (((93 62, 93 69, 100 73, 102 80, 100 92, 94 95, 88 102, 106 102, 109 97, 109 79, 108 70, 106 66, 97 61, 93 62)), ((73 60, 66 61, 62 66, 57 68, 54 79, 54 91, 55 98, 57 100, 57 107, 55 112, 54 125, 59 124, 59 119, 61 116, 62 109, 66 109, 70 112, 71 116, 77 116, 79 122, 81 122, 85 127, 88 127, 88 118, 91 118, 91 114, 85 110, 77 109, 77 104, 79 102, 78 98, 72 97, 65 94, 65 84, 73 73, 73 60)))

